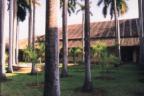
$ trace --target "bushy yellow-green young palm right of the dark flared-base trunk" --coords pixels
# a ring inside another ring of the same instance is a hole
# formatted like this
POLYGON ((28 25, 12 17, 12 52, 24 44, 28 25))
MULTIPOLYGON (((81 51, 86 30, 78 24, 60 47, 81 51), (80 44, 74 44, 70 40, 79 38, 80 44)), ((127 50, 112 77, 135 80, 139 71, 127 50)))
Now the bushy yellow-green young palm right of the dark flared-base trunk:
POLYGON ((101 65, 101 68, 107 71, 113 65, 119 64, 120 60, 113 54, 108 52, 108 48, 105 43, 98 42, 91 47, 92 55, 97 59, 97 62, 101 65))

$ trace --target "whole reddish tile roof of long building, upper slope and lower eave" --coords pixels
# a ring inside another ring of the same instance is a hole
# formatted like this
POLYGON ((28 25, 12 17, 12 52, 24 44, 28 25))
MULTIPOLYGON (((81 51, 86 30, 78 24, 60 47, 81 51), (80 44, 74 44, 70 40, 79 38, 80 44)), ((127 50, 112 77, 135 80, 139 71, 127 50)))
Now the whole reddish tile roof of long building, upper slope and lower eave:
MULTIPOLYGON (((139 25, 138 19, 120 20, 120 35, 122 46, 136 46, 139 44, 139 25)), ((90 24, 91 44, 99 42, 105 42, 108 46, 112 46, 115 43, 115 22, 95 22, 90 24)), ((68 26, 68 39, 69 47, 82 46, 82 24, 75 24, 68 26)), ((38 41, 43 41, 44 36, 38 37, 38 41)), ((62 41, 62 29, 59 29, 59 38, 62 41)), ((60 42, 62 47, 62 42, 60 42)))

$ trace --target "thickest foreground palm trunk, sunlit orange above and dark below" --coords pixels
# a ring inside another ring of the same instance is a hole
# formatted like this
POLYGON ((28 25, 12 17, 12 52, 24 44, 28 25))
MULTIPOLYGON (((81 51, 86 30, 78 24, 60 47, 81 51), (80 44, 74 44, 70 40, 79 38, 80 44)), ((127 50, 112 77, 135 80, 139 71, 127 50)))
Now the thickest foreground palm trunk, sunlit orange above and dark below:
POLYGON ((59 0, 46 0, 44 96, 60 96, 58 9, 59 0))

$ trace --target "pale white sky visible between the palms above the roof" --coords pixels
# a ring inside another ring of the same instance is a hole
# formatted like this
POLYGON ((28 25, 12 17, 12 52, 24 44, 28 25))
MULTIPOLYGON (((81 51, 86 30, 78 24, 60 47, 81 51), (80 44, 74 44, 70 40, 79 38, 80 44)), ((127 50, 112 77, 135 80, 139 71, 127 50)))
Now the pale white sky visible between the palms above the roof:
MULTIPOLYGON (((6 0, 7 1, 7 0, 6 0)), ((107 21, 111 20, 110 16, 108 14, 107 18, 104 18, 102 15, 102 7, 97 6, 98 0, 91 0, 91 12, 93 13, 93 16, 91 16, 91 22, 100 22, 100 21, 107 21)), ((44 35, 45 33, 45 2, 46 0, 39 0, 40 6, 36 6, 36 35, 44 35)), ((127 0, 128 4, 128 12, 120 16, 119 19, 130 19, 130 18, 138 18, 138 0, 127 0)), ((7 6, 7 4, 6 4, 7 6)), ((78 8, 79 9, 79 8, 78 8)), ((59 26, 61 26, 61 10, 59 11, 59 26)), ((79 12, 78 14, 73 13, 71 16, 68 16, 68 24, 81 24, 82 23, 82 13, 79 12)), ((6 8, 5 13, 5 34, 6 38, 9 36, 9 13, 6 8)), ((26 17, 26 20, 24 22, 20 23, 20 33, 19 33, 19 39, 24 39, 28 37, 28 16, 26 17)))

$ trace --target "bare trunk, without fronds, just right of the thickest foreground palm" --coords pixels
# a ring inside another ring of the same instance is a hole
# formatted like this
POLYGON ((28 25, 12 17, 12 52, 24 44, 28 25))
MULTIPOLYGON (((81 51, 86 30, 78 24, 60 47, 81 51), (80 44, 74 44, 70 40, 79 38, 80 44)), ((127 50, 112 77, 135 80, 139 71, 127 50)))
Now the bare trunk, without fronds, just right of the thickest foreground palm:
POLYGON ((68 0, 63 1, 63 66, 62 66, 62 72, 61 77, 67 77, 68 76, 68 29, 67 29, 67 9, 68 9, 68 0))

